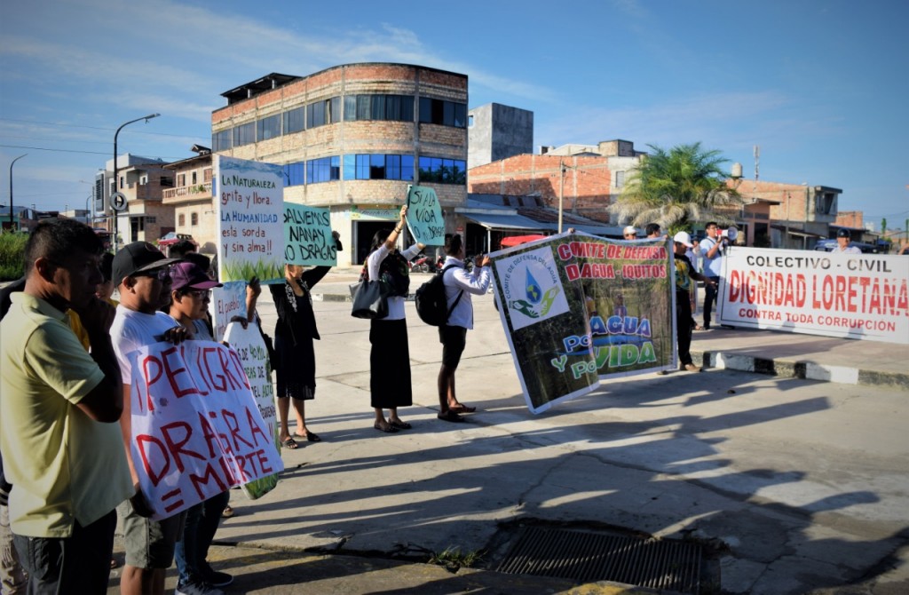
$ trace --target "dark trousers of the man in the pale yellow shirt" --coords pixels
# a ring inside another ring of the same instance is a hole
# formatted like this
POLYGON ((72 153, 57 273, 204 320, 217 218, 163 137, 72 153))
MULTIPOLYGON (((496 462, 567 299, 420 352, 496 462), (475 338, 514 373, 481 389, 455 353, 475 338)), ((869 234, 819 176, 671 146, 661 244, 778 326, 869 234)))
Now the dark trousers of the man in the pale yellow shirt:
POLYGON ((29 595, 106 593, 114 553, 116 511, 64 539, 14 535, 13 543, 28 572, 29 595))

